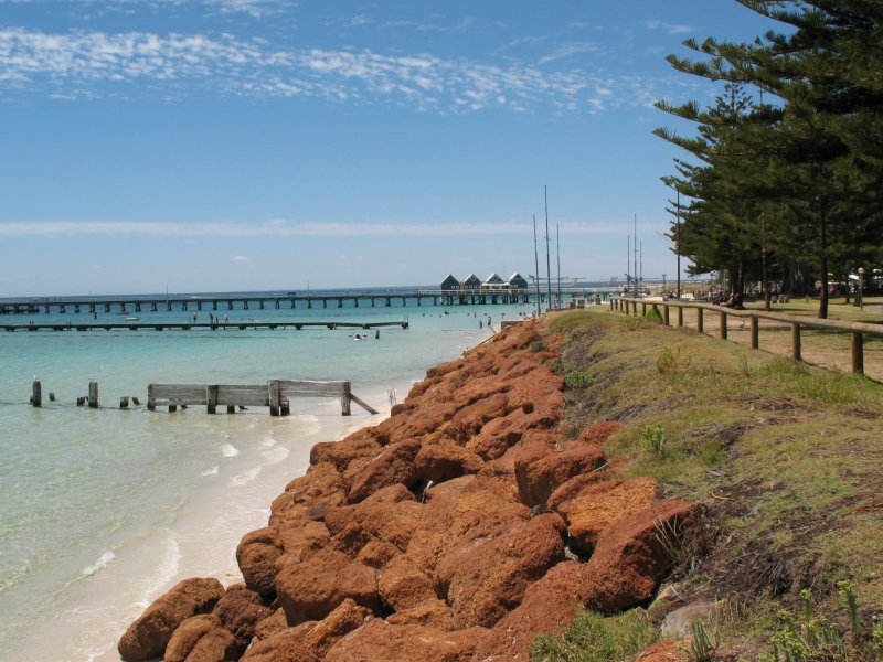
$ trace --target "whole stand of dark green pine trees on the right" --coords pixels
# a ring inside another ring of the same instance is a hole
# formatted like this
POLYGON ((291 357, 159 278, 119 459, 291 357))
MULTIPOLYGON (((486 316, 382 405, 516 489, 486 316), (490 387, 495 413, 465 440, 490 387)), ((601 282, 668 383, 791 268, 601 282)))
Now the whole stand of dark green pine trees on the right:
POLYGON ((657 103, 696 127, 656 131, 688 154, 663 178, 678 193, 669 237, 691 273, 724 273, 737 292, 760 282, 767 306, 773 281, 818 291, 825 318, 830 291, 849 297, 850 276, 868 287, 883 267, 883 9, 736 1, 776 28, 751 43, 690 39, 696 58, 668 57, 724 83, 705 108, 657 103))

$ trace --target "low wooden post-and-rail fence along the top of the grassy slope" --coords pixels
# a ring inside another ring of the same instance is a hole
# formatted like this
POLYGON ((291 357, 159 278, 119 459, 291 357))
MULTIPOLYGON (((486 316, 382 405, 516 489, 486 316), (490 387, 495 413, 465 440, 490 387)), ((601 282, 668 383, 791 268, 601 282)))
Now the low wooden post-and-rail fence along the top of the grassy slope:
POLYGON ((661 318, 666 325, 670 325, 670 309, 677 311, 675 327, 683 327, 683 311, 685 309, 695 310, 696 331, 705 332, 705 311, 717 314, 720 319, 719 335, 721 339, 727 338, 727 319, 730 317, 747 319, 751 324, 751 346, 757 350, 760 346, 760 324, 759 320, 769 320, 781 324, 790 325, 791 329, 791 359, 802 361, 801 329, 812 329, 816 331, 829 331, 836 333, 849 333, 851 335, 852 349, 852 372, 864 374, 864 337, 883 338, 883 325, 868 322, 849 322, 841 320, 822 320, 801 316, 786 314, 781 312, 767 312, 765 310, 747 310, 716 306, 714 303, 702 303, 699 301, 675 301, 662 300, 653 301, 646 299, 635 299, 629 297, 615 297, 610 299, 610 310, 614 312, 631 312, 638 314, 640 306, 642 317, 648 313, 648 307, 659 313, 662 309, 661 318))

